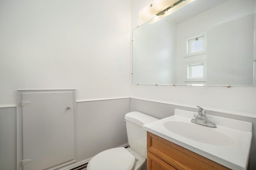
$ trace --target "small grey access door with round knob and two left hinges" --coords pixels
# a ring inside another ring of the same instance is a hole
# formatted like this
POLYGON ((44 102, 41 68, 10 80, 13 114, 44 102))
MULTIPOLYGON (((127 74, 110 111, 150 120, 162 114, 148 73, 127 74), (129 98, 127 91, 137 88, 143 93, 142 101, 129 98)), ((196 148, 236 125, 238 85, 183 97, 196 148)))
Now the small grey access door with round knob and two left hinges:
POLYGON ((22 100, 23 170, 42 170, 74 159, 73 93, 26 92, 22 100), (67 108, 69 107, 69 108, 67 108))

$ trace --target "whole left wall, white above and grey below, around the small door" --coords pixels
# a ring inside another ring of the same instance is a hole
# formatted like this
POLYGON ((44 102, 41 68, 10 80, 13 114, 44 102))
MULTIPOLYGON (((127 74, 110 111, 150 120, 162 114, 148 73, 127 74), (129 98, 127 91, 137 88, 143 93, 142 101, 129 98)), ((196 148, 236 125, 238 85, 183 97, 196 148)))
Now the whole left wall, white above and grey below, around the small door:
MULTIPOLYGON (((0 1, 0 169, 16 167, 16 90, 129 96, 130 37, 129 0, 0 1)), ((77 104, 78 161, 127 142, 118 101, 77 104)))

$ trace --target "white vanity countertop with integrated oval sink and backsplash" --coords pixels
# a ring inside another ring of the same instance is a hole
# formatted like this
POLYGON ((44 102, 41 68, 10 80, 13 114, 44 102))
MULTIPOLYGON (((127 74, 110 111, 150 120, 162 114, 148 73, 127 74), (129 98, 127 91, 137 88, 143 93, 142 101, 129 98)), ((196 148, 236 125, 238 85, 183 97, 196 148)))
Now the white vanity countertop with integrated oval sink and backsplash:
POLYGON ((190 122, 195 112, 175 109, 173 116, 143 125, 143 129, 234 170, 246 170, 252 123, 207 115, 216 128, 190 122))

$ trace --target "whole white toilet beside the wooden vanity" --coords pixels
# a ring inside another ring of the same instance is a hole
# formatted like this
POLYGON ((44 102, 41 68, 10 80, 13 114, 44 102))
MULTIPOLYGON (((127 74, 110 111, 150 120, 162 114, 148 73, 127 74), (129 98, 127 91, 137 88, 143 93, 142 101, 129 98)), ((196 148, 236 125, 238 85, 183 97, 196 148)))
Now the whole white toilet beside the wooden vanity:
POLYGON ((126 113, 129 148, 118 147, 96 154, 87 170, 141 170, 147 158, 147 134, 142 125, 158 119, 138 111, 126 113))

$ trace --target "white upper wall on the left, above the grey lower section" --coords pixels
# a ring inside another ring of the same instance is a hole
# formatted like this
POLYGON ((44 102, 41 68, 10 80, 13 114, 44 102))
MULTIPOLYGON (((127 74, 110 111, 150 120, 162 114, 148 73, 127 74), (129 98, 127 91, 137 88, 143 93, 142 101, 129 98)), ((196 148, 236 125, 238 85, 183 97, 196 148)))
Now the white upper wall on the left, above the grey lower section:
POLYGON ((0 1, 0 105, 17 89, 128 96, 130 1, 0 1))

